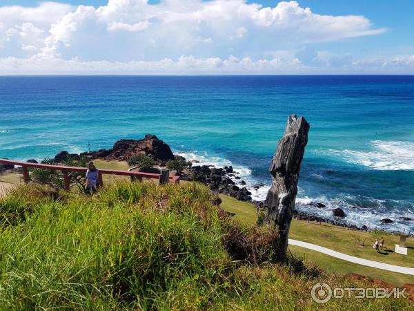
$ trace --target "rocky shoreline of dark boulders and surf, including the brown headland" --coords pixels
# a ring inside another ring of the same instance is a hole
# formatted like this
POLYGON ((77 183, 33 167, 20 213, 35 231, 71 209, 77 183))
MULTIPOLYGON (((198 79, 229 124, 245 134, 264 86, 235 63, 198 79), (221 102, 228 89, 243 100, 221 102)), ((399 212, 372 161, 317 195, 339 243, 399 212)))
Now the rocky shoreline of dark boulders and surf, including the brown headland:
MULTIPOLYGON (((184 171, 184 173, 181 173, 181 178, 183 180, 202 182, 204 185, 208 185, 212 191, 215 191, 219 194, 225 194, 227 196, 236 198, 237 200, 250 202, 262 210, 265 209, 264 200, 257 200, 257 198, 263 197, 265 195, 265 192, 267 194, 268 185, 265 185, 264 183, 255 183, 255 180, 253 180, 253 178, 249 178, 251 175, 250 169, 247 167, 237 166, 233 168, 233 163, 230 162, 230 160, 226 159, 220 159, 228 162, 228 165, 226 166, 217 165, 219 163, 208 164, 208 162, 214 161, 210 161, 207 158, 207 153, 204 153, 204 156, 201 156, 201 158, 198 159, 197 155, 192 152, 185 153, 182 151, 176 151, 173 153, 168 144, 162 140, 159 140, 155 135, 148 134, 144 139, 141 140, 119 140, 115 142, 112 149, 100 149, 99 151, 88 151, 80 154, 61 151, 57 153, 54 160, 56 162, 61 162, 68 156, 75 158, 79 156, 87 156, 90 160, 99 159, 106 161, 125 161, 128 160, 128 158, 134 153, 145 153, 147 156, 154 158, 160 167, 165 167, 168 160, 188 160, 193 163, 193 166, 189 170, 184 171), (187 158, 187 156, 189 156, 189 158, 187 158), (242 171, 239 171, 239 169, 242 171), (260 191, 262 193, 259 193, 260 191)), ((215 160, 216 162, 219 162, 217 161, 217 158, 215 160)), ((351 220, 351 223, 346 223, 347 221, 350 222, 350 220, 349 218, 348 220, 346 219, 347 215, 340 207, 328 207, 322 203, 324 201, 305 202, 306 200, 308 199, 297 198, 293 215, 294 218, 317 222, 322 221, 324 223, 330 223, 339 227, 348 227, 351 229, 358 229, 367 232, 374 231, 376 229, 391 233, 402 232, 396 228, 393 229, 391 227, 392 224, 395 223, 390 219, 393 218, 392 216, 387 216, 386 214, 382 216, 384 217, 382 218, 382 220, 384 220, 383 223, 386 223, 388 228, 385 227, 385 225, 383 225, 381 222, 379 222, 377 226, 357 225, 355 224, 355 220, 351 220), (298 202, 298 199, 302 202, 298 202), (301 210, 301 207, 304 207, 305 209, 314 209, 315 213, 303 211, 303 209, 301 210), (333 214, 331 217, 326 217, 326 215, 321 215, 318 213, 318 211, 323 211, 323 214, 330 212, 337 213, 337 216, 333 214)), ((358 208, 364 208, 364 206, 359 206, 358 208)), ((368 211, 368 209, 366 209, 366 211, 368 211)), ((358 216, 357 212, 356 215, 358 216)), ((404 221, 412 220, 408 217, 400 218, 404 218, 404 221)), ((410 231, 404 233, 411 234, 410 231)))

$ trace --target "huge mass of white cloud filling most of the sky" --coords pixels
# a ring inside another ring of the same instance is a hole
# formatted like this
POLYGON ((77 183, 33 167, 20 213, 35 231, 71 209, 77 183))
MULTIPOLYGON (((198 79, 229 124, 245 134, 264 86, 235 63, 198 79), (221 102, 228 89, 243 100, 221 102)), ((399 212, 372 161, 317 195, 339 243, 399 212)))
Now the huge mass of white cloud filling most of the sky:
POLYGON ((385 30, 363 16, 319 15, 296 1, 265 7, 244 0, 109 0, 99 8, 44 2, 0 7, 0 21, 0 74, 313 73, 402 68, 409 59, 321 57, 309 44, 385 30))

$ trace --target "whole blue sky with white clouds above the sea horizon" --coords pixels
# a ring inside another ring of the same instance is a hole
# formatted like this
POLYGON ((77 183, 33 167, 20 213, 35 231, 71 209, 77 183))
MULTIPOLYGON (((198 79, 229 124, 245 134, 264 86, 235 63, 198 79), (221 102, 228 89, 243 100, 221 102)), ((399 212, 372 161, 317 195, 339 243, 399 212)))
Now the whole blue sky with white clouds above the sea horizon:
POLYGON ((412 0, 1 0, 0 75, 414 74, 412 0))

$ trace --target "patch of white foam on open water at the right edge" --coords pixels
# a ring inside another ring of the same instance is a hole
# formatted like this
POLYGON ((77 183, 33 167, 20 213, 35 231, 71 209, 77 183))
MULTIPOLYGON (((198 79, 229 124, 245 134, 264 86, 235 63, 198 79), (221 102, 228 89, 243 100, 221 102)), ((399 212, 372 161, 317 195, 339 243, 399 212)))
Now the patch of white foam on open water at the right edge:
POLYGON ((340 156, 348 163, 359 164, 377 170, 414 170, 414 143, 403 141, 373 140, 373 150, 355 151, 350 149, 329 152, 340 156))

